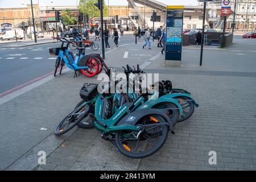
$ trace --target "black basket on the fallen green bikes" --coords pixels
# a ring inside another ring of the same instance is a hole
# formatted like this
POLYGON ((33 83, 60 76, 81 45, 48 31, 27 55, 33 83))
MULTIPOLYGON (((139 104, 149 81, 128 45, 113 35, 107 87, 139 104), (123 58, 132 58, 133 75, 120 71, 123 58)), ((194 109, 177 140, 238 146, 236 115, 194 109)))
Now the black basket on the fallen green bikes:
POLYGON ((98 84, 84 84, 80 90, 80 97, 84 101, 91 100, 97 93, 98 84))

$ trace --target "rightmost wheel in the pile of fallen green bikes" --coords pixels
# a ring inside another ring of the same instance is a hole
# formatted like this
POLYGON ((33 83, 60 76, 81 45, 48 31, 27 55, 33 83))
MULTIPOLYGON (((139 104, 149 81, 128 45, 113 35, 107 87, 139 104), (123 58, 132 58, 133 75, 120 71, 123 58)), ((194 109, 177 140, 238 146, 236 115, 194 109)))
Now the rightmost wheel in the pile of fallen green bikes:
POLYGON ((195 105, 193 104, 191 99, 188 97, 177 96, 175 98, 179 99, 179 104, 183 110, 183 115, 179 114, 179 117, 177 119, 177 122, 179 123, 179 122, 183 122, 183 121, 187 120, 188 118, 190 118, 193 115, 193 113, 195 111, 195 105))

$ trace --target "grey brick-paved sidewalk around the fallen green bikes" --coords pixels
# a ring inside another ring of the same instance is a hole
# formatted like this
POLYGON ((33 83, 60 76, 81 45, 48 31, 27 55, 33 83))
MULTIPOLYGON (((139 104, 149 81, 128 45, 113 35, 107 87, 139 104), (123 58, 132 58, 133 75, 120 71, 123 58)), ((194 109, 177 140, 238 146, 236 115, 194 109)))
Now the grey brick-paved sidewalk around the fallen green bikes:
POLYGON ((175 135, 170 134, 164 146, 149 158, 126 158, 113 144, 102 140, 95 129, 75 127, 62 137, 53 135, 57 123, 80 101, 82 84, 97 82, 96 78, 83 76, 74 79, 73 72, 67 72, 0 105, 0 169, 255 170, 253 41, 235 39, 226 50, 206 47, 203 67, 197 66, 197 47, 184 47, 184 66, 170 67, 163 65, 156 42, 152 50, 143 50, 142 40, 137 45, 114 48, 106 55, 106 63, 120 71, 126 64, 146 65, 155 57, 145 71, 160 73, 161 80, 172 80, 176 88, 189 90, 200 104, 195 114, 177 124, 175 135), (245 55, 237 55, 242 52, 245 55), (51 142, 47 142, 49 139, 51 142), (47 164, 38 166, 38 151, 44 148, 47 164), (210 151, 216 151, 217 165, 209 165, 210 151))

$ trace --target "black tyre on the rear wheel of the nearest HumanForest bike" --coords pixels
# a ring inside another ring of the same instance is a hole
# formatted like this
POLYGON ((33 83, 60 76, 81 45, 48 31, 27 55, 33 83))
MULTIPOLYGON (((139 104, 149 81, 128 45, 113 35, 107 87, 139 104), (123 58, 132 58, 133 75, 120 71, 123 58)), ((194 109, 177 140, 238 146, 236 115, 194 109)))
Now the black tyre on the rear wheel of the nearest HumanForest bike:
MULTIPOLYGON (((152 116, 155 119, 157 119, 159 123, 163 123, 164 124, 166 122, 166 120, 162 116, 160 116, 160 115, 152 114, 150 116, 152 116)), ((148 116, 145 116, 145 117, 148 117, 148 116)), ((136 153, 137 150, 138 150, 138 146, 137 145, 138 145, 139 142, 141 142, 141 141, 144 142, 145 140, 149 139, 148 137, 146 137, 147 134, 146 133, 143 134, 142 140, 141 140, 141 137, 139 137, 137 139, 137 144, 136 144, 135 149, 134 149, 135 152, 131 152, 131 148, 130 148, 131 146, 129 145, 129 143, 126 142, 129 139, 121 138, 122 137, 122 132, 123 132, 123 134, 126 134, 127 132, 129 132, 129 130, 117 131, 117 133, 115 134, 115 144, 116 144, 116 146, 118 148, 118 151, 121 152, 121 154, 127 156, 128 158, 132 158, 132 159, 142 159, 142 158, 146 158, 146 157, 148 157, 148 156, 150 156, 152 154, 155 154, 155 152, 160 150, 160 148, 164 145, 164 143, 166 142, 166 139, 168 137, 168 126, 167 125, 159 125, 159 126, 162 126, 162 135, 160 136, 160 139, 156 142, 156 145, 154 147, 152 147, 148 151, 143 151, 143 152, 139 152, 139 153, 136 153), (143 140, 143 138, 145 138, 145 140, 143 140)), ((126 134, 126 136, 128 136, 128 135, 126 134)), ((131 136, 133 136, 133 135, 131 135, 131 136)), ((127 137, 127 138, 129 138, 129 137, 127 137)), ((134 139, 130 139, 129 141, 130 142, 135 142, 135 140, 134 139)), ((148 140, 148 141, 150 141, 150 140, 148 140)), ((152 140, 151 140, 151 142, 152 142, 152 140)), ((144 147, 144 148, 146 150, 149 147, 150 146, 146 143, 146 147, 144 147)))

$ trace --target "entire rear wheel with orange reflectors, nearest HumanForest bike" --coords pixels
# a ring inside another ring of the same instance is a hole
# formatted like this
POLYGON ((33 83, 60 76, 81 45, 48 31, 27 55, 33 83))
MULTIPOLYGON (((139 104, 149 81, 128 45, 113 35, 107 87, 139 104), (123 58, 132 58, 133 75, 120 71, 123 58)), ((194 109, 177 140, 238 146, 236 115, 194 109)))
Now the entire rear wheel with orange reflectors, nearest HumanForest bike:
POLYGON ((121 130, 115 134, 115 144, 118 150, 128 158, 146 158, 157 152, 168 137, 166 120, 160 115, 147 115, 136 123, 144 126, 140 131, 121 130), (153 131, 154 130, 154 131, 153 131), (150 137, 151 133, 159 130, 161 135, 156 138, 150 137))

